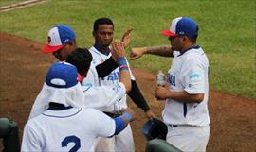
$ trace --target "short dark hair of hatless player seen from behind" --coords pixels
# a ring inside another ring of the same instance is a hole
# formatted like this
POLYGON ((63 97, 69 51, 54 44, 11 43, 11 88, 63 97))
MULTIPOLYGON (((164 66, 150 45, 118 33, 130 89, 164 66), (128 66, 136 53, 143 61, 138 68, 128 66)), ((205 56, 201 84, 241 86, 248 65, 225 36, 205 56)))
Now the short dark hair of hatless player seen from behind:
POLYGON ((68 55, 66 62, 77 67, 78 73, 84 76, 91 65, 92 54, 87 49, 77 48, 68 55))

